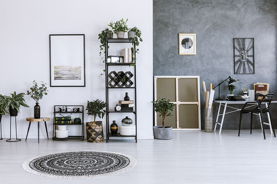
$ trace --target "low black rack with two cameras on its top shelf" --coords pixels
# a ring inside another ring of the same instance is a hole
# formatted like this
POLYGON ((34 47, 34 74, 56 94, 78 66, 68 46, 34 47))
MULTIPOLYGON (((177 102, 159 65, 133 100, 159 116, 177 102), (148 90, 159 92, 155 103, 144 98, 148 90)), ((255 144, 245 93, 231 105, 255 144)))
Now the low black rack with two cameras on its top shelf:
MULTIPOLYGON (((66 105, 61 105, 61 106, 66 106, 66 105)), ((81 107, 82 108, 82 111, 79 111, 79 112, 72 112, 72 111, 69 111, 69 112, 59 112, 59 111, 56 111, 56 109, 60 107, 58 105, 55 105, 54 106, 54 120, 53 120, 53 136, 52 136, 52 140, 55 140, 55 139, 80 139, 81 141, 84 140, 84 106, 80 106, 80 105, 76 105, 76 106, 67 106, 67 107, 81 107), (64 138, 58 138, 56 137, 56 125, 59 125, 59 124, 55 124, 55 119, 56 119, 56 113, 60 113, 60 114, 65 114, 65 113, 81 113, 82 114, 82 123, 71 123, 71 124, 65 124, 65 125, 82 125, 82 135, 69 135, 68 137, 64 137, 64 138), (55 136, 54 136, 55 134, 55 136)))

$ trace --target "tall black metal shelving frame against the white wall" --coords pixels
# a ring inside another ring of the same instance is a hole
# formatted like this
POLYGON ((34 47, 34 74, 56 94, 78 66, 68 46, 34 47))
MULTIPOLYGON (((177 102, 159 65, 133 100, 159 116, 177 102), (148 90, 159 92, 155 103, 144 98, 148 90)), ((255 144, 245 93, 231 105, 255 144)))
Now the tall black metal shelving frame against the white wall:
MULTIPOLYGON (((106 47, 105 47, 105 60, 107 60, 107 57, 108 57, 108 43, 131 43, 132 44, 132 41, 129 41, 128 38, 122 38, 122 39, 108 39, 107 42, 106 42, 106 47)), ((136 45, 134 44, 133 45, 134 48, 136 48, 136 45)), ((136 53, 134 53, 134 56, 136 57, 136 53)), ((134 58, 132 57, 132 60, 134 58)), ((136 64, 136 62, 134 62, 136 64)), ((137 110, 137 106, 136 106, 136 65, 134 65, 134 87, 109 87, 108 86, 108 74, 109 74, 109 70, 108 70, 108 66, 128 66, 132 64, 132 63, 105 63, 105 79, 106 79, 106 110, 107 110, 107 113, 106 113, 106 142, 108 142, 109 140, 109 137, 135 137, 135 140, 137 142, 137 113, 136 113, 136 110, 137 110), (123 89, 123 88, 126 88, 126 89, 134 89, 134 93, 135 93, 135 99, 134 99, 134 104, 135 104, 135 111, 112 111, 112 110, 109 110, 109 89, 114 89, 114 88, 120 88, 120 89, 123 89), (109 129, 110 129, 110 126, 109 126, 109 114, 111 112, 121 112, 121 113, 134 113, 135 115, 135 126, 136 126, 136 135, 120 135, 119 133, 117 135, 111 135, 111 133, 109 132, 109 129)))

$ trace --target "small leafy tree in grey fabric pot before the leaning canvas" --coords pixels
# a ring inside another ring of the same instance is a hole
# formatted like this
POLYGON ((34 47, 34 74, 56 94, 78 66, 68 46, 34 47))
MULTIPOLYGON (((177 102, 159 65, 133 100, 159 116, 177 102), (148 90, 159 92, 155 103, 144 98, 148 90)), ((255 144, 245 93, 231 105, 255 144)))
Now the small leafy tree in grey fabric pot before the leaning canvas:
POLYGON ((162 126, 153 126, 154 138, 168 140, 172 139, 172 126, 164 126, 166 116, 173 116, 171 111, 176 105, 165 98, 152 101, 154 110, 162 116, 162 126))

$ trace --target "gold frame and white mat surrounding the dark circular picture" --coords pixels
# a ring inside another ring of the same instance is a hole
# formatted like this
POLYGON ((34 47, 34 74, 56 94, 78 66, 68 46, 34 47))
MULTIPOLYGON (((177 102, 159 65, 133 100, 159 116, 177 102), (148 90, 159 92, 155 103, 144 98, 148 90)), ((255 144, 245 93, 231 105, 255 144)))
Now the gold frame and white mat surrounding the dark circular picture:
POLYGON ((178 43, 179 43, 179 55, 196 55, 196 33, 179 33, 178 43), (192 45, 189 49, 186 49, 185 48, 186 46, 182 45, 182 40, 184 38, 189 38, 190 40, 192 40, 192 45))

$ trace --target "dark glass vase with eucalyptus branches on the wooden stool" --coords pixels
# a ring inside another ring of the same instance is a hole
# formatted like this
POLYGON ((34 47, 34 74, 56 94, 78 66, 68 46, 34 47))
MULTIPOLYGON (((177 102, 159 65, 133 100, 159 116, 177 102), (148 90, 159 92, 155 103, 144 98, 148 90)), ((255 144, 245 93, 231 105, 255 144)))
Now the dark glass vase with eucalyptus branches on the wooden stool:
POLYGON ((34 118, 40 118, 41 107, 38 105, 38 100, 42 99, 43 95, 47 95, 48 90, 44 82, 42 82, 41 87, 38 87, 38 83, 36 83, 36 81, 33 81, 33 84, 34 85, 30 88, 31 91, 28 90, 27 94, 36 101, 36 105, 34 106, 34 118))

